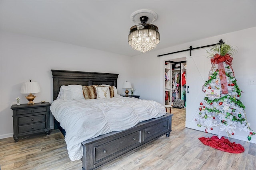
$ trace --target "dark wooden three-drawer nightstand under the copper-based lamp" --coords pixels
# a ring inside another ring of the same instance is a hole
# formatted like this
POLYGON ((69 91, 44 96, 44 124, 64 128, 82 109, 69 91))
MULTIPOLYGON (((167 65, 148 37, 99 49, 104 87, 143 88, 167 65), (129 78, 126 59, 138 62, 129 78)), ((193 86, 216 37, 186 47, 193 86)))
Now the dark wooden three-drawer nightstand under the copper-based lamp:
POLYGON ((20 136, 38 132, 50 135, 49 102, 35 104, 12 105, 13 139, 18 142, 20 136))

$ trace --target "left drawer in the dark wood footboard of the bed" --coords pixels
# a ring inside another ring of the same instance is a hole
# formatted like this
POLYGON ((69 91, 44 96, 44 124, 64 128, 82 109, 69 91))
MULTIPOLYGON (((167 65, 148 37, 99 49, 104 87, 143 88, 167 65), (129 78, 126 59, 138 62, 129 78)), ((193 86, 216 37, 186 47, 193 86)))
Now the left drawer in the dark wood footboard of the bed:
POLYGON ((95 164, 116 154, 116 152, 120 152, 128 147, 132 147, 132 145, 141 143, 140 136, 141 131, 137 131, 95 147, 95 164))

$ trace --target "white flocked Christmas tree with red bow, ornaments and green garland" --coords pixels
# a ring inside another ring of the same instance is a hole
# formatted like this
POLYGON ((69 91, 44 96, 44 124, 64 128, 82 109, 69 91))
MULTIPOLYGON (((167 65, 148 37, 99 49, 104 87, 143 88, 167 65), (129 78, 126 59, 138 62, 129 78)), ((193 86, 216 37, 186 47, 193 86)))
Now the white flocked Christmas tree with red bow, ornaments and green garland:
MULTIPOLYGON (((231 66, 236 50, 230 45, 221 44, 212 47, 207 53, 211 57, 212 68, 202 87, 205 97, 199 104, 195 122, 199 127, 206 127, 206 133, 219 127, 229 137, 237 130, 243 130, 248 133, 250 141, 255 133, 246 119, 245 106, 240 101, 242 90, 237 85, 231 66)), ((220 135, 218 137, 221 138, 220 135)))

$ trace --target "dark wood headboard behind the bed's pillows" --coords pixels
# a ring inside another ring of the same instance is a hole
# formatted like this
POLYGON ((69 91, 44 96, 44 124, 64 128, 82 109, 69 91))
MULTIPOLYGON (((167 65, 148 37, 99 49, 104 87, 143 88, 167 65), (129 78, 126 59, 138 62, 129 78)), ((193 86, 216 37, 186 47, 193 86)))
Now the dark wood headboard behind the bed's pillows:
POLYGON ((53 78, 53 100, 58 97, 62 85, 78 84, 83 86, 108 84, 117 87, 118 74, 101 72, 82 72, 51 70, 53 78))

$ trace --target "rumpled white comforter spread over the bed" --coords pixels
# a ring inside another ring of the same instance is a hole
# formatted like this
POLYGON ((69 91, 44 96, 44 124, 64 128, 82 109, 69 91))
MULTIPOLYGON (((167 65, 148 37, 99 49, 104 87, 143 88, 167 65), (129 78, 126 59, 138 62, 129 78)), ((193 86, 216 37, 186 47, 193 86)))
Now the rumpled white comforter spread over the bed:
POLYGON ((166 114, 164 106, 137 98, 54 100, 52 114, 66 131, 70 160, 82 158, 82 142, 112 131, 122 131, 141 121, 166 114))

